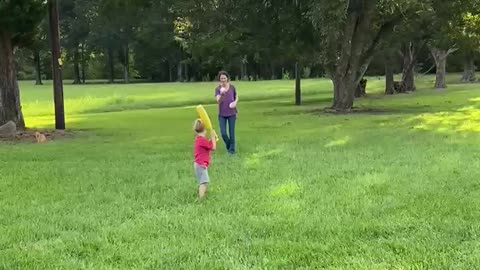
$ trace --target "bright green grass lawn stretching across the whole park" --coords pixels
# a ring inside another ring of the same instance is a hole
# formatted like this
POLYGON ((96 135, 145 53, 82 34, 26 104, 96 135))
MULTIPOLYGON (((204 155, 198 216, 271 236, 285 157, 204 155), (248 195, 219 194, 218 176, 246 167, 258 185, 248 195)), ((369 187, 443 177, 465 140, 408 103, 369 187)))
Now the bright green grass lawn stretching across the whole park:
MULTIPOLYGON (((0 144, 0 269, 474 269, 480 265, 480 85, 316 112, 331 83, 238 82, 238 154, 220 141, 195 203, 192 107, 214 83, 65 85, 74 139, 0 144)), ((29 127, 51 84, 22 82, 29 127)), ((206 107, 217 125, 215 106, 206 107)), ((218 128, 217 128, 218 129, 218 128)))

